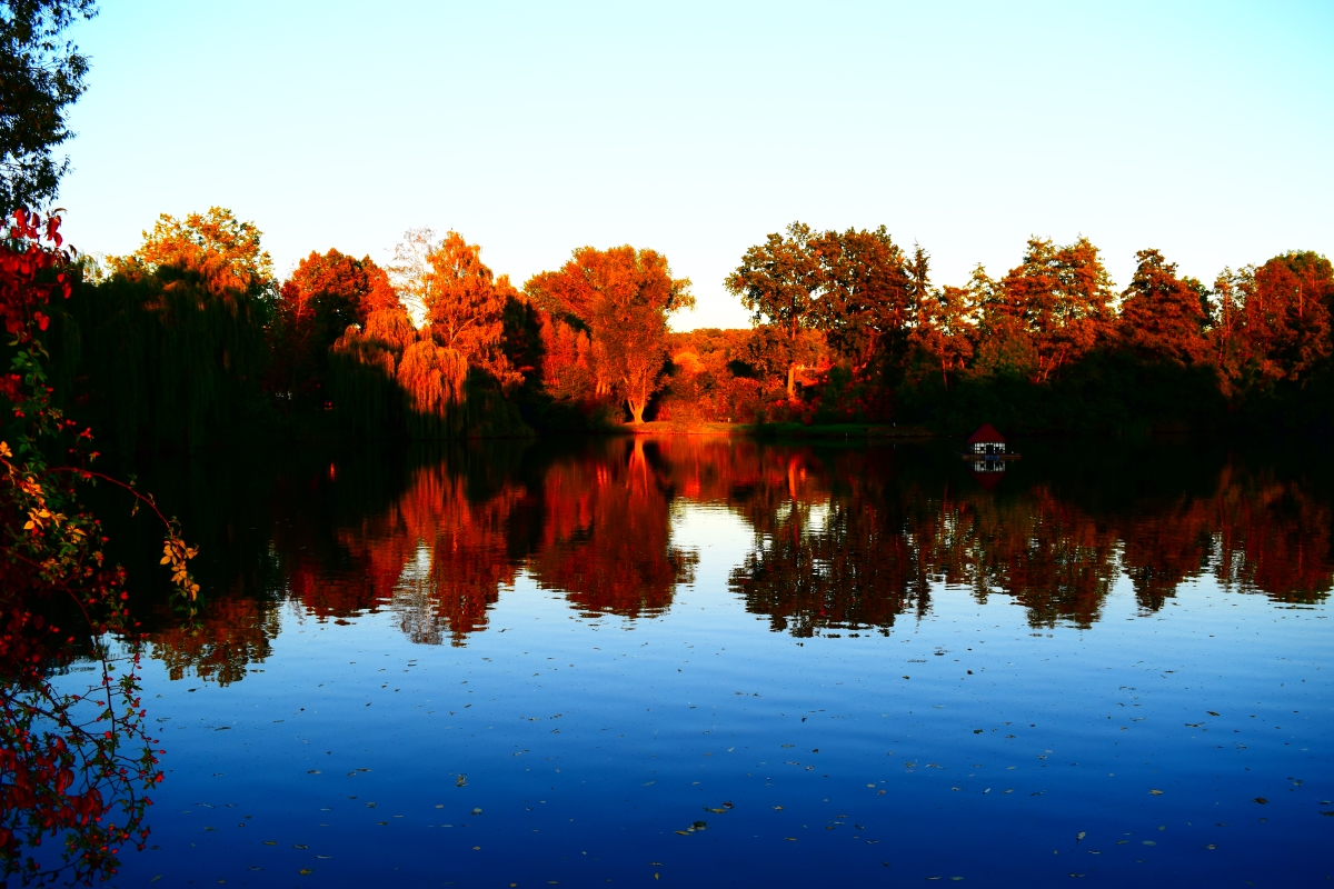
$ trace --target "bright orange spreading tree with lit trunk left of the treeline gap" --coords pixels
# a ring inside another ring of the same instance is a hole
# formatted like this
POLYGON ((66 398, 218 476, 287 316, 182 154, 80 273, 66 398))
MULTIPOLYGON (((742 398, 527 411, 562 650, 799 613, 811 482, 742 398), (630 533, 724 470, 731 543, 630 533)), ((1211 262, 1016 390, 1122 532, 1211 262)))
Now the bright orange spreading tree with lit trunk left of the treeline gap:
POLYGON ((588 331, 599 393, 615 389, 632 421, 643 423, 662 381, 667 319, 695 304, 690 280, 674 279, 656 251, 583 247, 559 272, 530 279, 524 291, 538 308, 588 331))

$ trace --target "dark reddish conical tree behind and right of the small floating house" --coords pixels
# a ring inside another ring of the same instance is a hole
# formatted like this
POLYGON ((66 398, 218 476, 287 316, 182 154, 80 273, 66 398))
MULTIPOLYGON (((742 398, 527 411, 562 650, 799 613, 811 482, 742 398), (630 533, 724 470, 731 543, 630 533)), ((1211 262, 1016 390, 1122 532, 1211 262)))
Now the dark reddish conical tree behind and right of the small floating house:
POLYGON ((1177 276, 1177 264, 1158 251, 1135 253, 1138 267, 1122 293, 1121 337, 1151 360, 1198 364, 1209 357, 1205 328, 1207 291, 1195 279, 1177 276))

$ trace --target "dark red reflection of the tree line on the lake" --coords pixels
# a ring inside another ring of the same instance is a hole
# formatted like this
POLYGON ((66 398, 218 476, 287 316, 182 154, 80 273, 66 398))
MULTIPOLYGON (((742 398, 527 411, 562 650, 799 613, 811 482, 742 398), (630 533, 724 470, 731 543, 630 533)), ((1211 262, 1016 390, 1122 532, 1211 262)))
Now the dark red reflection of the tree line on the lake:
POLYGON ((1034 628, 1094 626, 1126 577, 1143 612, 1193 578, 1277 602, 1331 588, 1329 485, 1301 458, 1194 446, 1123 449, 1097 464, 1069 446, 974 474, 944 446, 779 446, 723 439, 474 445, 415 460, 321 460, 196 477, 181 512, 227 501, 204 553, 209 596, 153 652, 173 676, 229 682, 268 654, 284 602, 316 621, 391 610, 415 642, 463 645, 520 574, 582 614, 660 614, 694 582, 679 510, 724 508, 752 534, 731 572, 778 632, 888 632, 942 586, 1009 597, 1034 628), (249 488, 247 488, 249 485, 249 488), (228 592, 235 590, 235 592, 228 592))

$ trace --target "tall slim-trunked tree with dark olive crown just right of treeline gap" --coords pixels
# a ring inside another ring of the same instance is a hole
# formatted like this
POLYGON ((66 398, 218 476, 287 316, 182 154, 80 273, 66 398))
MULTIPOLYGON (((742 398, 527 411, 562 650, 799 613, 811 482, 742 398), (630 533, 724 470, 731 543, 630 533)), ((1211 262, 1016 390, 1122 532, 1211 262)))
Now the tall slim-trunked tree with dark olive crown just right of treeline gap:
POLYGON ((787 227, 787 236, 771 233, 742 256, 742 264, 723 285, 740 297, 754 324, 772 325, 780 332, 774 344, 787 368, 787 397, 796 395, 800 335, 819 324, 816 303, 826 285, 820 264, 819 239, 804 223, 787 227))

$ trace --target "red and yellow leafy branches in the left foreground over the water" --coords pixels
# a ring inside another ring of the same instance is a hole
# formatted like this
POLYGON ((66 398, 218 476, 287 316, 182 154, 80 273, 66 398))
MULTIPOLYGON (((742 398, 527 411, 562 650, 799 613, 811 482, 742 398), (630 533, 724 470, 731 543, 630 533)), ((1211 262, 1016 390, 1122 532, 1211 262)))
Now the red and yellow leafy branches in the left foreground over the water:
POLYGON ((92 432, 52 403, 43 344, 53 296, 68 299, 73 252, 60 219, 16 211, 0 236, 0 324, 11 372, 0 377, 0 866, 24 884, 91 885, 116 873, 124 844, 144 848, 163 773, 139 693, 143 636, 129 616, 125 573, 107 561, 87 485, 127 490, 165 528, 163 564, 193 616, 195 549, 175 520, 132 485, 92 470, 92 432), (68 616, 75 628, 61 629, 68 616), (59 622, 57 622, 59 621, 59 622), (80 644, 95 682, 61 677, 80 644), (59 853, 41 849, 59 840, 59 853))

